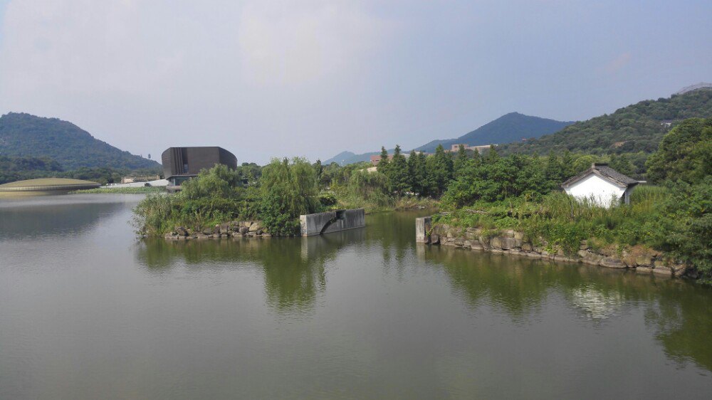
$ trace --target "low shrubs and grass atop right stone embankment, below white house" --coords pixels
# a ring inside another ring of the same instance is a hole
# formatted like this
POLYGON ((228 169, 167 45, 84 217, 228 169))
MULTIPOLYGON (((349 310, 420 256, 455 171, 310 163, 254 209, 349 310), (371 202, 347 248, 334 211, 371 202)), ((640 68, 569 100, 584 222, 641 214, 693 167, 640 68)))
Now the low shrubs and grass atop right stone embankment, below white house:
POLYGON ((554 192, 535 200, 478 202, 436 221, 495 232, 515 229, 570 254, 583 240, 621 250, 642 245, 693 266, 703 282, 712 283, 711 209, 712 177, 707 177, 697 185, 640 186, 630 205, 610 209, 554 192))

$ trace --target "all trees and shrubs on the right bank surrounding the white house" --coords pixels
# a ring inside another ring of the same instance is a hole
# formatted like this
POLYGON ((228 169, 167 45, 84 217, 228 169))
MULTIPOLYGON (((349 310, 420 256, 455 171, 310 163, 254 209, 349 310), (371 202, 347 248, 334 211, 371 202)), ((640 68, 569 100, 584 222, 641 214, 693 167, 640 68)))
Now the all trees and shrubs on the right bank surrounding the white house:
MULTIPOLYGON (((619 250, 646 246, 692 265, 704 283, 712 283, 711 137, 712 120, 681 122, 650 157, 651 177, 662 186, 640 186, 630 205, 611 209, 554 190, 596 157, 489 152, 466 160, 443 197, 451 213, 439 218, 490 231, 518 229, 568 253, 582 240, 619 250)), ((614 161, 623 172, 625 160, 614 161)))

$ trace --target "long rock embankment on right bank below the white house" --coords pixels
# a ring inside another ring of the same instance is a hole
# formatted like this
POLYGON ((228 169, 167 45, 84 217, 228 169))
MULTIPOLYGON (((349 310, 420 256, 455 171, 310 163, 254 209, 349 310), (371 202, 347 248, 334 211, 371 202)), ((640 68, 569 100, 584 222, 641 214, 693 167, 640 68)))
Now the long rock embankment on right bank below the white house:
POLYGON ((570 263, 585 263, 606 268, 630 268, 638 273, 684 276, 692 271, 687 265, 650 248, 612 248, 595 246, 593 241, 582 241, 577 253, 565 253, 542 238, 533 241, 525 233, 511 229, 490 231, 481 228, 461 228, 431 223, 429 217, 417 219, 417 241, 468 248, 472 250, 506 253, 531 258, 545 258, 570 263))

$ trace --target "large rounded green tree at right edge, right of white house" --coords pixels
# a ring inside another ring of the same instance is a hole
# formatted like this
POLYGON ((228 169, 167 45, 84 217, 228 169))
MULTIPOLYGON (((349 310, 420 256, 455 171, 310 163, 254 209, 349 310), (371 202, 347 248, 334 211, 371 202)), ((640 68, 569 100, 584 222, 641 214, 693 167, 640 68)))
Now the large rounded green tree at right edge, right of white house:
MULTIPOLYGON (((712 90, 709 90, 712 92, 712 90)), ((647 162, 649 179, 702 181, 712 174, 712 118, 691 118, 674 127, 647 162)))

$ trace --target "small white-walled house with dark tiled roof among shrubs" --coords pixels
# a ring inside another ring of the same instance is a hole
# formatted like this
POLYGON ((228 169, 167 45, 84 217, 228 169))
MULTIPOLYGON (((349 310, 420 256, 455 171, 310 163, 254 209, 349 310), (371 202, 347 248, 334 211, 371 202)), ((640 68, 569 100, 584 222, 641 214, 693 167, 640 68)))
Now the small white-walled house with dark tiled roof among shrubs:
POLYGON ((565 181, 561 187, 578 200, 587 199, 602 207, 630 204, 630 194, 638 181, 627 177, 608 164, 592 164, 580 175, 565 181))

